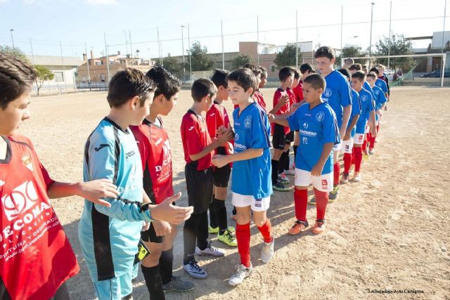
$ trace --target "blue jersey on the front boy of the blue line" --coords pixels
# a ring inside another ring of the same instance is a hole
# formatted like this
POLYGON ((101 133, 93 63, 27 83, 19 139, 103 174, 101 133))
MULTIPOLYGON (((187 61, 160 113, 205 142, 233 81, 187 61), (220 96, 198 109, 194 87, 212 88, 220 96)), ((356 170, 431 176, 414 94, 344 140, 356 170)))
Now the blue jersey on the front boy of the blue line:
POLYGON ((233 162, 231 190, 255 199, 269 197, 272 193, 270 159, 270 123, 266 112, 253 102, 240 112, 233 112, 234 152, 250 148, 263 149, 260 157, 233 162))

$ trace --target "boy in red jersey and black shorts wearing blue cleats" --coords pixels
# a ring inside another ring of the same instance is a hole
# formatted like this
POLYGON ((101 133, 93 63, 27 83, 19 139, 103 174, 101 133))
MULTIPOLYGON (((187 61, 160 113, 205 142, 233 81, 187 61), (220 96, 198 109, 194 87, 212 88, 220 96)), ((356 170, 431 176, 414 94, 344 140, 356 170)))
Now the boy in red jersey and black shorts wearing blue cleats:
POLYGON ((195 255, 224 256, 223 249, 211 246, 207 242, 207 209, 212 200, 212 155, 214 150, 224 146, 233 138, 231 129, 221 128, 215 141, 208 133, 202 112, 212 107, 217 88, 209 79, 197 79, 191 88, 193 105, 181 121, 181 141, 183 141, 186 167, 186 188, 188 203, 194 207, 191 219, 184 223, 184 259, 183 269, 193 278, 207 278, 207 272, 198 266, 195 255), (197 247, 195 247, 197 244, 197 247))

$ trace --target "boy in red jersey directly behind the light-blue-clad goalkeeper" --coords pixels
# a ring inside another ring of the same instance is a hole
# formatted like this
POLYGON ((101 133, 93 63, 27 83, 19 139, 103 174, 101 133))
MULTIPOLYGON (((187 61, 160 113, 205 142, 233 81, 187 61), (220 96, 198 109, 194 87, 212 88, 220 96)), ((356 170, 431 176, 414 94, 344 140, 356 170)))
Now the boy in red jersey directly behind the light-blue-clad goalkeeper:
MULTIPOLYGON (((181 81, 160 65, 150 69, 146 77, 152 79, 157 87, 150 115, 141 125, 130 126, 130 129, 141 153, 143 188, 153 204, 160 204, 174 195, 172 153, 160 115, 167 116, 172 111, 181 81)), ((175 237, 176 225, 165 221, 154 221, 148 230, 141 231, 141 239, 150 250, 141 264, 150 299, 165 299, 166 291, 186 292, 194 287, 192 282, 172 275, 175 237)))

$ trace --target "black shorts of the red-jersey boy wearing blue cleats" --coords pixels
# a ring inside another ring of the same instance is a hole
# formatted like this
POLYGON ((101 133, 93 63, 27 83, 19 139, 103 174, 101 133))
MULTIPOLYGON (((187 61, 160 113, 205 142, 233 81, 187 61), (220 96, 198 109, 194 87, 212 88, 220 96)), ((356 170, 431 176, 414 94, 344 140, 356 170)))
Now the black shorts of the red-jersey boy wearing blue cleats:
POLYGON ((197 162, 184 167, 188 204, 194 207, 193 214, 202 214, 210 208, 212 202, 212 167, 198 171, 197 162))

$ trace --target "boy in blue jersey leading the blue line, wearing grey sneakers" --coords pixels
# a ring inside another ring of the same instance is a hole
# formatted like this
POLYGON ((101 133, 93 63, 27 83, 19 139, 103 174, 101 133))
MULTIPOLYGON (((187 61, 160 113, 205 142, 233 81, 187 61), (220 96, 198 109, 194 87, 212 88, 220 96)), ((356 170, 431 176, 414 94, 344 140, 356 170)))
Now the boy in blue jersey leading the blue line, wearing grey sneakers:
POLYGON ((233 112, 234 154, 214 155, 216 167, 233 162, 231 174, 232 202, 236 207, 236 240, 240 266, 229 278, 229 285, 239 285, 250 273, 250 209, 253 221, 264 237, 261 260, 267 263, 274 256, 274 236, 267 219, 272 193, 270 162, 270 124, 266 113, 252 100, 257 79, 248 69, 231 72, 228 77, 229 96, 239 105, 233 112))

